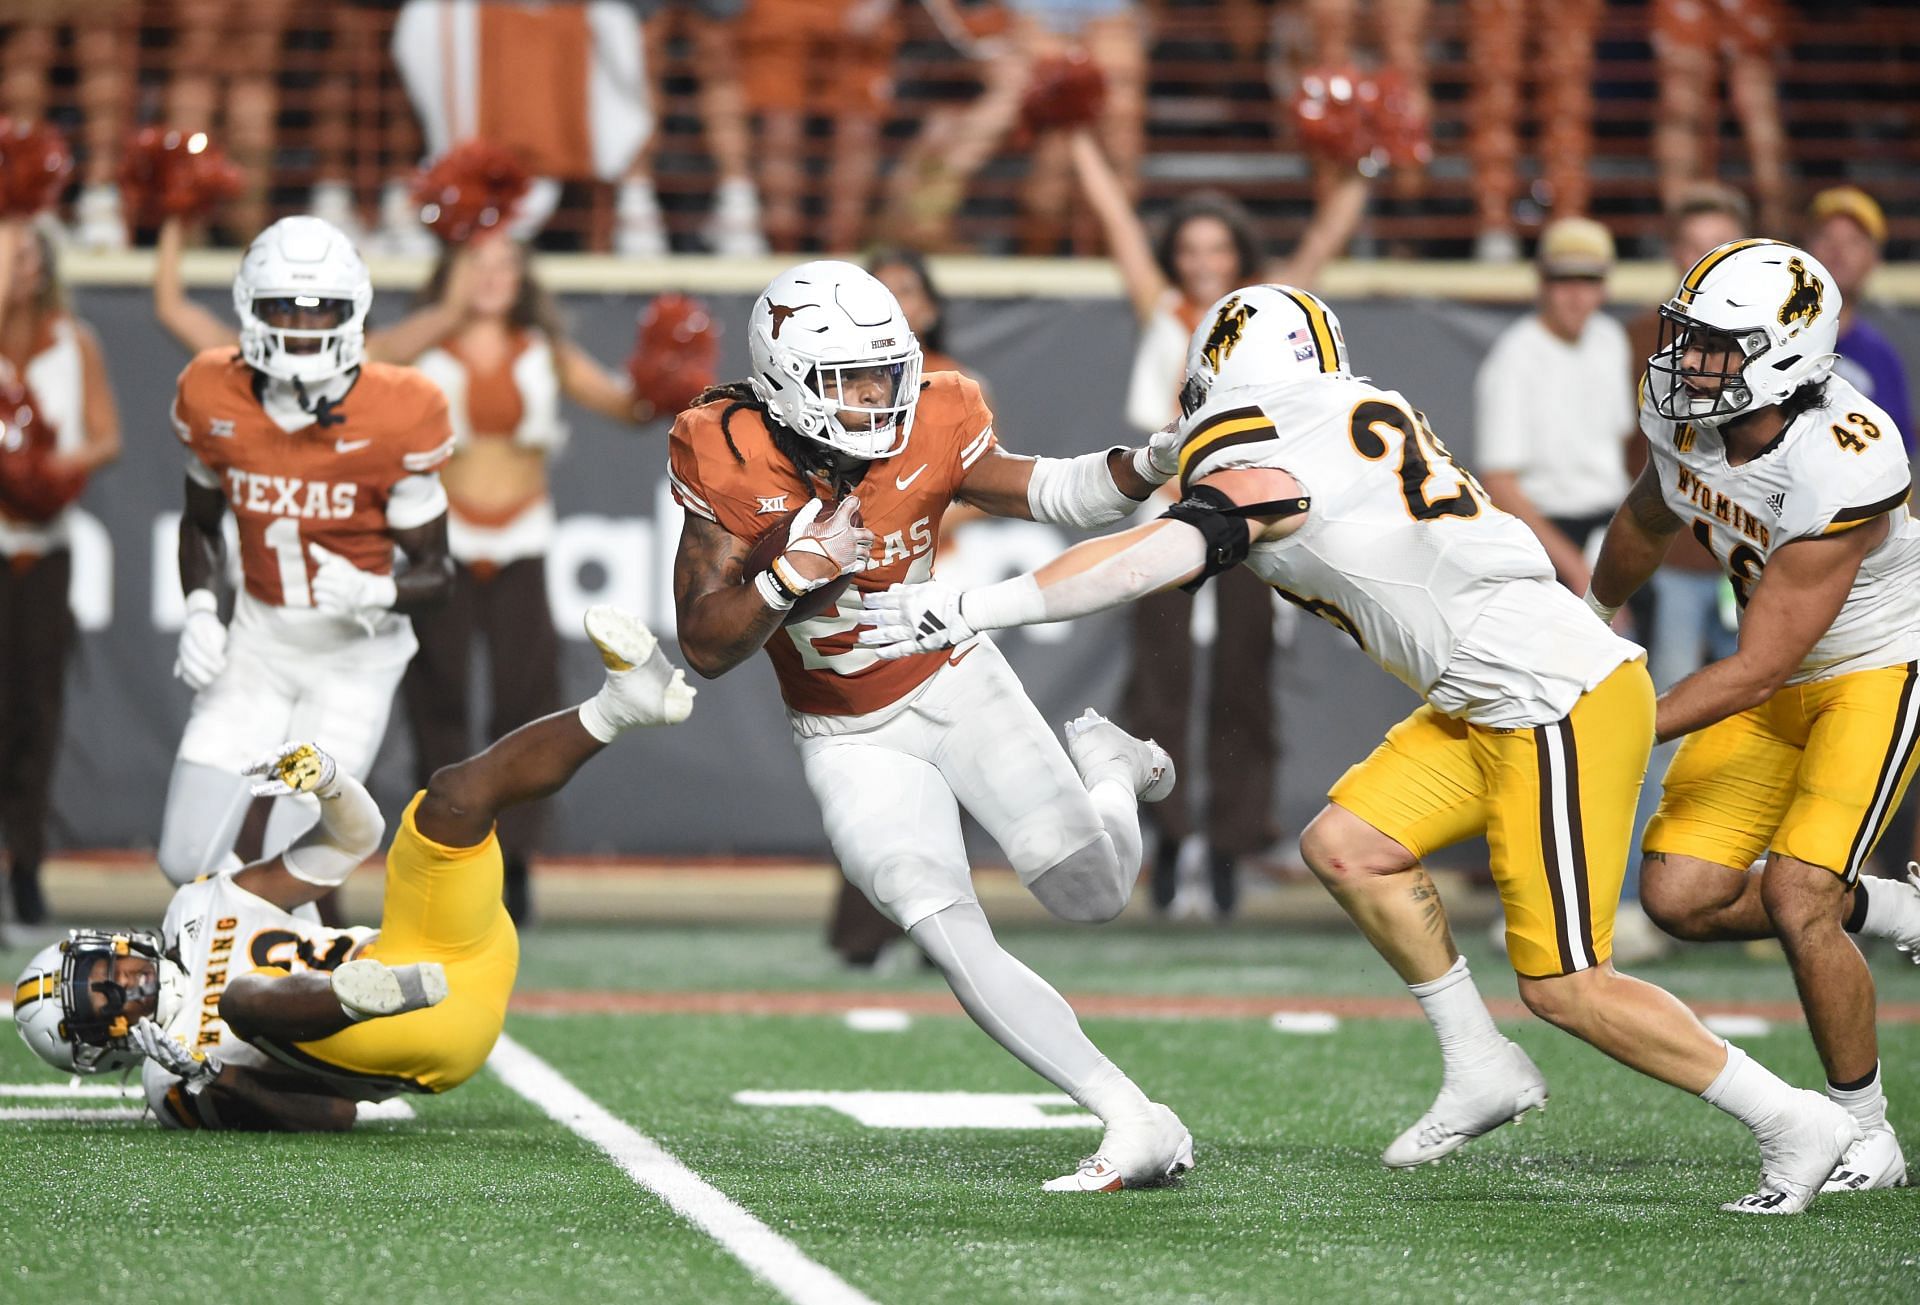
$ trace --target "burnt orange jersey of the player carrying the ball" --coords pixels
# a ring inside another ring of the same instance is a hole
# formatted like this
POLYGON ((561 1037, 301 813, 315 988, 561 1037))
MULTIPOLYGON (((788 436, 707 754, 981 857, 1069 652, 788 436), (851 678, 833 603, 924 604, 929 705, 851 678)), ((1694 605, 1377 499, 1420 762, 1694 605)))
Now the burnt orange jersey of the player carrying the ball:
MULTIPOLYGON (((720 399, 680 415, 668 478, 680 507, 751 543, 783 512, 810 497, 826 497, 828 487, 804 478, 774 447, 758 413, 733 413, 730 449, 720 434, 726 407, 720 399)), ((993 413, 979 386, 956 372, 927 376, 906 449, 870 463, 854 487, 860 518, 874 532, 868 570, 854 576, 833 612, 783 626, 766 641, 787 706, 820 716, 864 716, 899 702, 945 664, 947 652, 883 662, 872 649, 858 647, 860 593, 933 574, 941 512, 968 468, 993 445, 993 413)))

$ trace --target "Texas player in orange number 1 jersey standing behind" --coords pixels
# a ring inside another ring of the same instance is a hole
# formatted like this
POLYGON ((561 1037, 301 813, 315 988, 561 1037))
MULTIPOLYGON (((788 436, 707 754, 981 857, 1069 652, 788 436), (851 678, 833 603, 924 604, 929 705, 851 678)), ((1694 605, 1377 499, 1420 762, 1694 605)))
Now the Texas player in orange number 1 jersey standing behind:
MULTIPOLYGON (((234 276, 240 347, 180 372, 173 430, 186 445, 175 674, 194 689, 167 781, 159 867, 188 883, 230 864, 248 806, 240 770, 282 739, 313 739, 353 775, 372 768, 413 658, 407 612, 453 580, 440 466, 453 428, 440 390, 365 361, 372 282, 353 244, 317 217, 263 230, 234 276), (232 620, 223 518, 240 535, 232 620), (394 570, 394 551, 407 557, 394 570)), ((265 850, 315 818, 275 804, 265 850)))

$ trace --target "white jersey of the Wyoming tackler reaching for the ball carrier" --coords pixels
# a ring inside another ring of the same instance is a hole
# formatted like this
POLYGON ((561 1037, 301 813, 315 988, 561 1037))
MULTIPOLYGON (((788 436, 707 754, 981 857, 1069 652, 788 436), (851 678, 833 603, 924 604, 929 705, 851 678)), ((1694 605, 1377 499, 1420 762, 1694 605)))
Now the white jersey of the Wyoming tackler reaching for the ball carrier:
POLYGON ((1434 710, 1540 725, 1642 654, 1553 580, 1534 534, 1394 390, 1350 376, 1250 386, 1215 393, 1181 432, 1183 491, 1233 466, 1300 482, 1306 524, 1256 543, 1246 566, 1434 710))

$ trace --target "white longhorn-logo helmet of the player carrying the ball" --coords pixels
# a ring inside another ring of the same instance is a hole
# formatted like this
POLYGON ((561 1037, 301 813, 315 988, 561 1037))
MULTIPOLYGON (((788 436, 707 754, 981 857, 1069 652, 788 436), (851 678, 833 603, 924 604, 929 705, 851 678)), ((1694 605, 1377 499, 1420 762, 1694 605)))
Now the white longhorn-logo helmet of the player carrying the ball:
POLYGON ((906 449, 920 403, 920 342, 899 301, 866 269, 820 259, 781 273, 747 320, 755 395, 783 426, 856 459, 906 449), (887 401, 841 399, 854 372, 881 368, 887 401), (849 426, 841 413, 864 413, 849 426))

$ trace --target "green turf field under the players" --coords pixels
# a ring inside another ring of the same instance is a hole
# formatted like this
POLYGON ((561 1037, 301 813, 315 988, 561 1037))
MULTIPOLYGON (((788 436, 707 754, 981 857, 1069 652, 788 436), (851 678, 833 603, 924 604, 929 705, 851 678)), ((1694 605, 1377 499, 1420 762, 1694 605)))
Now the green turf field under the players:
MULTIPOLYGON (((1033 931, 1008 944, 1083 994, 1298 1008, 1396 992, 1340 933, 1033 931)), ((23 960, 0 952, 0 965, 23 960)), ((1513 996, 1492 956, 1473 960, 1490 998, 1513 996)), ((1920 1000, 1920 971, 1876 960, 1882 1000, 1920 1000)), ((1784 965, 1738 950, 1644 973, 1701 1006, 1791 998, 1784 965)), ((530 933, 522 992, 557 990, 653 994, 662 1009, 708 992, 920 1009, 939 983, 912 969, 845 975, 812 927, 530 933)), ((509 1036, 824 1270, 824 1293, 789 1299, 1920 1299, 1920 1192, 1828 1198, 1784 1221, 1720 1215, 1755 1176, 1745 1132, 1536 1021, 1511 1032, 1548 1073, 1548 1111, 1398 1174, 1377 1153, 1438 1084, 1423 1023, 1350 1017, 1319 1034, 1254 1015, 1087 1025, 1194 1130, 1200 1165, 1179 1188, 1039 1192, 1091 1150, 1092 1128, 883 1128, 828 1105, 735 1100, 1046 1090, 958 1015, 856 1032, 837 1013, 516 1013, 509 1036)), ((1797 1025, 1740 1040, 1818 1082, 1797 1025)), ((1920 1027, 1884 1031, 1884 1065, 1893 1121, 1920 1140, 1920 1027)), ((13 1038, 0 1040, 0 1082, 58 1086, 13 1038)), ((63 1105, 123 1107, 0 1098, 63 1105)), ((783 1299, 499 1077, 415 1105, 413 1121, 340 1138, 0 1121, 0 1301, 783 1299)))

